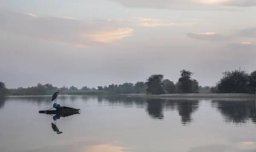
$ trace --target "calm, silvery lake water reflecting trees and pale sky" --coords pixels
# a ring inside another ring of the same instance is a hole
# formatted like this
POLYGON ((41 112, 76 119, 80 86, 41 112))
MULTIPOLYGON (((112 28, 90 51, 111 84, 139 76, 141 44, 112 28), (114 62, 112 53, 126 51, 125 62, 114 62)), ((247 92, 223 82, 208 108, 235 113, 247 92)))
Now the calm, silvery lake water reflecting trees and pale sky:
POLYGON ((256 152, 255 100, 59 96, 80 114, 38 113, 51 96, 0 98, 0 152, 256 152))

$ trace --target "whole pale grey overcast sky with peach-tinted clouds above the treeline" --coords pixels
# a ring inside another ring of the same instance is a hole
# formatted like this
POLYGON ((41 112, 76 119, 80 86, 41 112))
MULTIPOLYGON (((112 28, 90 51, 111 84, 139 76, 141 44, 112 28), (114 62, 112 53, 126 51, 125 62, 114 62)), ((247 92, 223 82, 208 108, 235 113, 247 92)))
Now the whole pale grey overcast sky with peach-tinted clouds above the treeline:
POLYGON ((1 0, 0 81, 81 88, 256 70, 255 0, 1 0))

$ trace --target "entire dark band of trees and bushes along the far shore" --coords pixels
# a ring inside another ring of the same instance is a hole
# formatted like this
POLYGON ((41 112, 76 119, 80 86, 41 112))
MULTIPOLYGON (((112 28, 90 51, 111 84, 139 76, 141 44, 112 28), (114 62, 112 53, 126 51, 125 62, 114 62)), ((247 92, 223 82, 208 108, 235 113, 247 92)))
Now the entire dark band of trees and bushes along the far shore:
POLYGON ((44 96, 52 95, 56 90, 63 90, 66 95, 100 95, 119 94, 127 96, 151 96, 151 97, 251 97, 256 98, 256 70, 249 72, 245 69, 226 70, 215 86, 199 85, 196 79, 192 79, 193 72, 181 70, 177 82, 164 79, 163 74, 152 74, 145 82, 125 82, 123 84, 110 84, 108 86, 54 87, 52 84, 38 83, 33 87, 6 88, 4 82, 0 82, 0 96, 44 96))

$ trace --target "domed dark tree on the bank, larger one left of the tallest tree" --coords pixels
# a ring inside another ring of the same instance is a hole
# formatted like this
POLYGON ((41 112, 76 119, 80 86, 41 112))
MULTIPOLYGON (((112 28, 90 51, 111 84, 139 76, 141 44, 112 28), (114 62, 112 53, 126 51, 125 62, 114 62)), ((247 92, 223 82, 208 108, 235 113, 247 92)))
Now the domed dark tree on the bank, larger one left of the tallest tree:
POLYGON ((146 93, 147 94, 163 94, 163 74, 152 74, 148 77, 146 93))

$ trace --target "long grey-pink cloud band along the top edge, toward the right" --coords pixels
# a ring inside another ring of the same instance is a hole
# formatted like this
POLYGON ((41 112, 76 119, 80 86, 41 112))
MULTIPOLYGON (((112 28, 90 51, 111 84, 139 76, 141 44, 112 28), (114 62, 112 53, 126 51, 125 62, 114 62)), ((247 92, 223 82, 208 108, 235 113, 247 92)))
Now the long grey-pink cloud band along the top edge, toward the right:
MULTIPOLYGON (((221 9, 225 7, 252 7, 255 0, 110 0, 128 8, 157 9, 221 9)), ((227 10, 225 8, 225 10, 227 10)))

